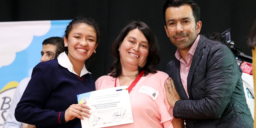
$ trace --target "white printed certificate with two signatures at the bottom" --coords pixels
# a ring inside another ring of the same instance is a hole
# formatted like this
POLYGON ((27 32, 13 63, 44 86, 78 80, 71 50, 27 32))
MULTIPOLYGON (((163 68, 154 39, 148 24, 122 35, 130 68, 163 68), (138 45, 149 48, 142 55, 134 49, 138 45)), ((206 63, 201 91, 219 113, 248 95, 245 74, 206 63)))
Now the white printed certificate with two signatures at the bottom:
POLYGON ((92 114, 83 117, 82 128, 102 128, 133 123, 127 86, 102 89, 77 95, 79 104, 88 105, 92 114))

